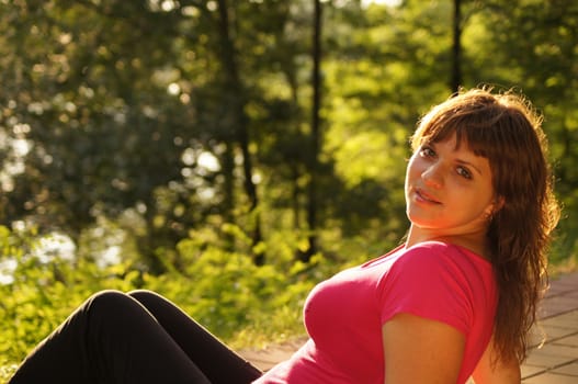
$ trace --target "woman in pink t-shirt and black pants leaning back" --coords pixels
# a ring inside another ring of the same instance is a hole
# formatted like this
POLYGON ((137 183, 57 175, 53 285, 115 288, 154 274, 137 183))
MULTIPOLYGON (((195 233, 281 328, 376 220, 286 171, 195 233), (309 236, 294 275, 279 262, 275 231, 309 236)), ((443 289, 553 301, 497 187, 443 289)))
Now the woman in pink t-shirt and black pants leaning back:
POLYGON ((405 244, 311 291, 290 360, 261 373, 161 296, 105 291, 10 383, 519 383, 558 219, 541 118, 474 89, 411 147, 405 244))

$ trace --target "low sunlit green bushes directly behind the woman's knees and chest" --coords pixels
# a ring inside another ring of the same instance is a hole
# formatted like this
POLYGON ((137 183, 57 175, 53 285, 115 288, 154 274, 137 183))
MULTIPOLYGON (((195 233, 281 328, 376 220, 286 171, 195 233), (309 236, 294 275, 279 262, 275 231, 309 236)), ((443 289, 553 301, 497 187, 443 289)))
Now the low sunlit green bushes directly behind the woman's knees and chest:
MULTIPOLYGON (((0 226, 0 260, 16 260, 12 282, 0 284, 0 366, 8 376, 24 355, 78 305, 101 290, 148 289, 180 305, 234 347, 256 347, 303 335, 301 307, 316 281, 338 266, 321 256, 310 264, 293 261, 292 247, 275 266, 257 267, 251 255, 218 249, 214 236, 194 236, 179 244, 182 272, 152 275, 129 263, 97 267, 87 258, 61 253, 42 260, 34 252, 39 237, 0 226), (213 242, 213 244, 212 244, 213 242)), ((7 379, 7 377, 3 377, 7 379)))

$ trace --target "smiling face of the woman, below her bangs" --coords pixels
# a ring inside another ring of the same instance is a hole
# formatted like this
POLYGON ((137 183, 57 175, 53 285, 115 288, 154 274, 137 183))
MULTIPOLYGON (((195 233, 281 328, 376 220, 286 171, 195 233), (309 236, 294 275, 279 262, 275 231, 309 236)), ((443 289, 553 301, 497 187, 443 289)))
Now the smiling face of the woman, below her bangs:
POLYGON ((431 237, 486 233, 495 192, 487 158, 475 155, 455 134, 424 143, 409 160, 406 212, 413 228, 431 237))

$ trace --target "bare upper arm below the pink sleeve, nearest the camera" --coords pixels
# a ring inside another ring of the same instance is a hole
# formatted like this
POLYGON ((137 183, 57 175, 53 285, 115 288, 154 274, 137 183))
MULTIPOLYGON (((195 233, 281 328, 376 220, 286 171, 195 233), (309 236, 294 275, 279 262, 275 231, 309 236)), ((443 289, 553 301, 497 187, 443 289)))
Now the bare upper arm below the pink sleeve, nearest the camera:
POLYGON ((382 328, 385 383, 455 384, 465 337, 447 324, 398 314, 382 328))

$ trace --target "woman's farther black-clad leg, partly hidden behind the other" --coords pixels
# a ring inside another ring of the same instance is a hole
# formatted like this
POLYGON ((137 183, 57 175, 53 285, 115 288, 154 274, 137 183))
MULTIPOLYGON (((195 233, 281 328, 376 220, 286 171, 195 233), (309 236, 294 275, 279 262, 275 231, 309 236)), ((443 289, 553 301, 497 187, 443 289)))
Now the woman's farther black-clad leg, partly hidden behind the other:
POLYGON ((174 304, 151 291, 128 293, 139 301, 213 384, 251 383, 262 373, 174 304))

